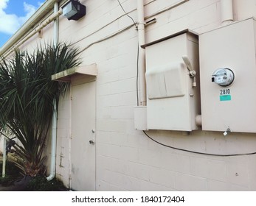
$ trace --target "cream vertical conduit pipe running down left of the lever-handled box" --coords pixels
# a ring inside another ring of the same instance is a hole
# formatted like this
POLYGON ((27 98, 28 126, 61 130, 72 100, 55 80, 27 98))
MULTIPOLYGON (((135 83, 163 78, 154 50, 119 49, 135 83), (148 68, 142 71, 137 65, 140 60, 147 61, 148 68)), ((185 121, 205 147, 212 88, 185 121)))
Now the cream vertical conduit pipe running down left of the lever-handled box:
POLYGON ((140 46, 145 44, 145 21, 144 21, 144 1, 137 1, 138 15, 138 42, 139 42, 139 106, 146 106, 146 81, 145 81, 145 49, 140 46))

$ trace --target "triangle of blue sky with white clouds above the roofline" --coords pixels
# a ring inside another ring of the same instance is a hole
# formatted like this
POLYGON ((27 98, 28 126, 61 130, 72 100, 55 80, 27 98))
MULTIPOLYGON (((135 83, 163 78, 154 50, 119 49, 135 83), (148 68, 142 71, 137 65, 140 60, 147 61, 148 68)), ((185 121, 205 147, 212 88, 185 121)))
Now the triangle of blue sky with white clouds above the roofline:
POLYGON ((0 0, 0 47, 45 0, 0 0))

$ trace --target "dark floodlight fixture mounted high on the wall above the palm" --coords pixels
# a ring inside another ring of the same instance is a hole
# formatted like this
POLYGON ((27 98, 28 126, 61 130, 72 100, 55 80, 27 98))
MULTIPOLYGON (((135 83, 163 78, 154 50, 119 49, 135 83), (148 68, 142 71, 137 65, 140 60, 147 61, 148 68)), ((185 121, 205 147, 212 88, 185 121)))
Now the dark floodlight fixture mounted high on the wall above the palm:
POLYGON ((66 16, 69 20, 75 20, 82 18, 86 15, 86 6, 81 4, 77 0, 70 0, 63 5, 62 11, 63 15, 66 16))

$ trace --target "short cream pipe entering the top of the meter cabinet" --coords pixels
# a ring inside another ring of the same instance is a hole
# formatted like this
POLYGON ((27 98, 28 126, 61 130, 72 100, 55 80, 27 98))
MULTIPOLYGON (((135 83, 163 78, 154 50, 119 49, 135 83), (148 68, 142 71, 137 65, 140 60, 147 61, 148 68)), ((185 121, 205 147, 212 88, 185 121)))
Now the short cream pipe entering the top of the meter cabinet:
POLYGON ((233 20, 232 0, 221 0, 221 25, 230 24, 233 20))

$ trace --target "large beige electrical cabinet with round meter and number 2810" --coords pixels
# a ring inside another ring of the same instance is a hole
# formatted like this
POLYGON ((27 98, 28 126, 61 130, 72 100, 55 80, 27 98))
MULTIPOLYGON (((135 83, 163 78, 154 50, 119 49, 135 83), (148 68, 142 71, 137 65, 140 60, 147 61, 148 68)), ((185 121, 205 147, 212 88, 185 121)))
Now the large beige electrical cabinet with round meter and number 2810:
POLYGON ((199 36, 202 129, 256 132, 256 23, 199 36))

